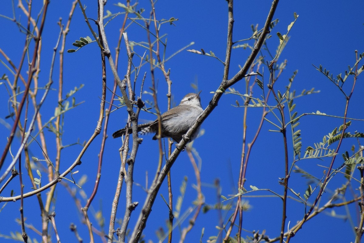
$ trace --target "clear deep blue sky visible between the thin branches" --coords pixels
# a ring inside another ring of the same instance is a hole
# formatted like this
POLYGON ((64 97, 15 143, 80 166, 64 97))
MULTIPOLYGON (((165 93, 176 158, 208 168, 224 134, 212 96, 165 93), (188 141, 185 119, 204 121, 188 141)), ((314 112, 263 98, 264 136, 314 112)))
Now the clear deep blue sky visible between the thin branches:
MULTIPOLYGON (((92 19, 97 18, 97 4, 96 1, 82 1, 87 6, 87 15, 92 19)), ((105 9, 110 10, 112 13, 123 11, 115 6, 112 1, 108 1, 105 9)), ((251 36, 251 25, 258 24, 259 28, 263 27, 266 16, 268 14, 271 2, 270 1, 235 1, 234 2, 234 41, 246 39, 251 36)), ((68 17, 71 1, 51 1, 47 13, 47 24, 44 28, 43 47, 42 47, 42 64, 40 72, 40 82, 45 85, 48 81, 49 64, 52 55, 52 49, 59 33, 59 27, 56 22, 59 17, 63 18, 65 22, 68 17)), ((138 8, 145 8, 146 11, 143 16, 149 16, 150 4, 149 1, 139 1, 138 8)), ((35 5, 33 13, 39 11, 39 6, 35 5)), ((167 34, 167 50, 166 56, 169 56, 181 49, 182 47, 194 42, 194 45, 189 49, 200 50, 203 48, 206 52, 213 51, 220 59, 225 59, 226 52, 226 26, 227 26, 227 4, 226 1, 165 1, 159 0, 156 5, 157 19, 170 19, 170 17, 178 18, 174 25, 165 24, 161 28, 161 35, 167 34)), ((289 42, 282 52, 278 62, 284 59, 288 60, 286 69, 282 73, 279 82, 276 84, 276 89, 284 90, 288 84, 288 79, 292 76, 293 71, 298 70, 297 76, 293 82, 293 89, 300 93, 301 90, 309 90, 312 87, 315 90, 320 90, 318 94, 312 94, 299 99, 296 99, 296 111, 298 114, 311 113, 317 110, 326 114, 342 116, 344 114, 345 98, 339 90, 334 87, 332 83, 324 77, 323 74, 316 71, 312 64, 318 66, 322 64, 325 68, 330 70, 334 77, 339 73, 344 73, 348 65, 351 67, 355 63, 355 50, 359 53, 364 51, 363 39, 363 1, 280 1, 277 11, 273 19, 279 19, 279 23, 273 29, 271 39, 268 40, 268 47, 271 51, 279 44, 279 39, 276 32, 285 34, 287 26, 294 20, 293 12, 299 15, 296 23, 290 31, 289 42)), ((16 16, 20 16, 19 9, 15 9, 16 16)), ((0 10, 1 15, 12 16, 11 4, 3 4, 0 10)), ((106 34, 108 43, 114 55, 114 48, 119 35, 120 24, 122 23, 123 15, 113 19, 106 26, 106 34)), ((25 17, 21 17, 22 23, 25 17)), ((0 36, 0 48, 9 55, 14 63, 19 63, 21 49, 24 43, 24 35, 19 32, 16 25, 11 21, 0 18, 0 26, 3 34, 0 36)), ((96 26, 94 26, 96 28, 96 26)), ((129 40, 136 42, 146 40, 146 32, 141 27, 133 25, 127 30, 129 40)), ((90 36, 91 33, 83 19, 82 12, 79 7, 76 8, 72 24, 70 26, 70 33, 67 36, 66 49, 73 48, 72 42, 80 37, 90 36)), ((253 41, 248 42, 253 45, 253 41)), ((141 49, 136 51, 142 55, 141 49)), ((126 71, 127 59, 125 55, 125 48, 122 45, 119 64, 119 75, 123 77, 126 71)), ((64 77, 64 92, 79 87, 84 84, 84 87, 75 95, 76 101, 85 101, 79 107, 70 110, 65 117, 65 127, 63 144, 72 144, 78 139, 82 142, 88 140, 93 133, 96 122, 98 120, 100 96, 101 96, 101 65, 100 65, 100 51, 95 43, 83 47, 76 53, 65 54, 65 77, 64 77)), ((232 62, 230 67, 229 78, 233 77, 238 72, 239 65, 244 65, 246 58, 250 54, 248 49, 242 48, 233 49, 232 62)), ((114 55, 115 56, 115 55, 114 55)), ((135 57, 136 58, 136 57, 135 57)), ((3 56, 0 57, 5 62, 3 56)), ((135 59, 137 60, 137 59, 135 59)), ((137 63, 139 62, 136 61, 137 63)), ((56 62, 58 66, 58 59, 56 62)), ((149 70, 149 65, 145 65, 142 72, 149 70)), ((171 69, 170 78, 173 81, 172 93, 175 103, 179 103, 182 97, 195 90, 191 87, 191 83, 198 84, 198 90, 201 92, 202 107, 205 108, 222 79, 223 65, 216 59, 207 56, 197 55, 191 52, 182 51, 169 62, 166 63, 166 68, 171 69)), ((23 75, 25 74, 23 68, 23 75)), ((57 70, 57 69, 56 69, 57 70)), ((0 66, 0 75, 6 73, 10 80, 12 75, 3 66, 0 66)), ((167 109, 166 91, 167 85, 164 81, 161 72, 156 72, 156 80, 158 82, 158 105, 161 111, 167 109)), ((58 73, 55 71, 53 79, 55 81, 54 88, 57 85, 58 73)), ((110 69, 107 70, 107 85, 112 88, 113 78, 110 69)), ((269 74, 266 70, 265 80, 269 79, 269 74)), ((351 88, 352 80, 346 84, 346 91, 351 88)), ((145 82, 145 90, 151 86, 150 75, 147 73, 145 82)), ((137 85, 138 87, 138 85, 137 85)), ((233 86, 234 89, 244 94, 245 83, 238 82, 233 86)), ((259 97, 261 90, 255 87, 254 96, 259 97)), ((358 79, 356 90, 351 100, 351 106, 348 110, 348 117, 363 119, 361 113, 363 104, 363 83, 358 79)), ((117 92, 120 95, 120 91, 117 92)), ((136 92, 139 93, 139 90, 136 92)), ((110 92, 107 94, 107 100, 110 99, 110 92)), ((151 99, 150 96, 144 95, 143 99, 151 99)), ((201 158, 201 180, 203 183, 202 192, 205 196, 206 204, 213 205, 216 203, 216 189, 212 187, 215 179, 221 181, 222 194, 227 196, 237 193, 237 177, 239 173, 241 146, 242 146, 242 117, 243 109, 233 107, 236 100, 243 103, 242 99, 237 95, 227 94, 223 95, 219 101, 217 108, 211 115, 203 122, 202 128, 205 134, 194 142, 194 148, 201 158)), ((272 102, 273 100, 271 100, 272 102)), ((8 94, 4 84, 0 86, 0 147, 3 148, 6 143, 6 137, 9 136, 9 130, 4 125, 4 122, 11 124, 11 121, 5 120, 8 115, 8 94), (4 121, 4 122, 3 122, 4 121)), ((42 107, 41 113, 44 121, 54 114, 54 107, 57 105, 57 92, 51 91, 47 97, 47 103, 42 107)), ((254 108, 248 110, 248 134, 247 141, 251 141, 258 122, 260 121, 261 110, 254 108)), ((272 117, 269 117, 272 118, 272 117)), ((118 149, 121 146, 120 139, 112 139, 111 134, 125 125, 126 110, 118 109, 111 114, 110 124, 108 127, 109 138, 106 142, 106 150, 104 153, 104 162, 102 168, 102 177, 98 195, 92 204, 93 209, 89 212, 99 211, 102 209, 105 223, 108 224, 110 217, 110 207, 116 187, 116 180, 118 177, 120 159, 118 149)), ((155 116, 147 113, 141 113, 140 119, 150 121, 154 120, 155 116)), ((312 146, 314 142, 320 142, 322 137, 331 132, 336 126, 342 124, 342 119, 334 119, 320 116, 305 116, 301 118, 302 130, 302 148, 312 146)), ((363 128, 363 121, 353 121, 350 131, 353 133, 355 130, 363 128)), ((281 194, 283 187, 278 184, 278 178, 284 176, 284 160, 283 160, 283 146, 282 136, 279 133, 268 132, 269 129, 275 129, 274 126, 266 123, 264 124, 261 134, 258 137, 256 144, 252 150, 250 162, 248 165, 246 187, 254 185, 258 188, 270 188, 273 191, 281 194)), ((50 150, 51 160, 54 160, 55 152, 54 134, 47 133, 49 141, 48 149, 50 150)), ((154 172, 157 168, 158 161, 158 143, 151 140, 153 135, 143 137, 144 141, 139 148, 138 157, 135 164, 134 180, 135 182, 145 185, 146 172, 148 172, 148 184, 150 185, 154 172)), ((96 176, 98 153, 100 147, 101 136, 97 137, 92 143, 88 152, 82 158, 82 165, 77 169, 79 178, 82 175, 87 175, 87 183, 83 186, 87 196, 92 192, 94 180, 96 176)), ((351 146, 357 141, 348 139, 344 141, 342 152, 349 150, 351 146)), ((19 140, 16 140, 12 149, 19 146, 19 140)), ((80 152, 81 146, 75 145, 63 150, 62 165, 60 171, 64 171, 75 160, 77 154, 80 152)), ((291 150, 292 151, 292 150, 291 150)), ((31 147, 31 152, 35 157, 41 157, 41 151, 35 144, 31 147)), ((341 153, 342 153, 341 152, 341 153)), ((8 155, 7 163, 10 163, 11 157, 8 155)), ((292 156, 290 156, 292 162, 292 156)), ((341 156, 337 159, 334 168, 337 168, 342 163, 341 156)), ((298 162, 298 166, 305 169, 309 173, 317 177, 323 176, 324 168, 318 166, 329 165, 329 160, 306 160, 298 162)), ((6 165, 4 166, 6 167, 6 165)), ((4 168, 0 171, 1 175, 4 168)), ((196 193, 193 188, 195 177, 187 153, 183 152, 178 157, 172 168, 173 177, 173 191, 174 199, 177 200, 179 195, 179 186, 185 176, 188 177, 187 191, 182 205, 182 212, 191 206, 191 201, 195 200, 196 193)), ((355 173, 356 178, 359 178, 359 173, 355 173)), ((30 183, 25 179, 25 191, 29 191, 30 183)), ((344 179, 342 175, 337 175, 329 184, 329 188, 334 190, 340 187, 344 179)), ((307 180, 302 178, 300 174, 293 173, 290 178, 290 185, 296 192, 303 194, 307 188, 307 180)), ((73 185, 70 185, 73 187, 73 185)), ((351 193, 358 194, 356 188, 358 183, 353 184, 352 192, 348 192, 349 197, 351 193)), ((8 189, 3 192, 8 196, 10 190, 13 189, 15 194, 19 194, 19 182, 13 181, 8 189)), ((134 222, 138 217, 139 210, 143 204, 145 192, 138 187, 134 187, 133 201, 139 201, 139 206, 132 213, 130 220, 130 228, 134 227, 134 222)), ((167 185, 164 183, 160 190, 161 194, 167 198, 168 191, 167 185)), ((45 196, 45 192, 43 192, 45 196)), ((325 193, 323 196, 323 203, 330 196, 330 192, 325 193)), ((118 209, 118 218, 124 215, 124 195, 125 187, 123 187, 122 197, 120 199, 120 206, 118 209)), ((281 200, 274 197, 262 197, 269 195, 268 193, 252 193, 249 196, 261 197, 248 197, 246 200, 252 206, 248 212, 244 212, 243 227, 246 230, 253 231, 266 230, 266 234, 271 238, 279 235, 280 222, 281 222, 281 200)), ((75 206, 71 196, 66 192, 61 185, 57 186, 57 202, 55 203, 54 210, 57 213, 56 222, 58 223, 58 231, 63 242, 75 242, 74 235, 69 230, 71 222, 75 223, 78 230, 85 242, 88 242, 87 229, 79 220, 82 216, 78 215, 78 210, 75 206)), ((80 197, 80 196, 79 196, 80 197)), ((25 199, 25 216, 28 218, 27 223, 40 229, 39 206, 35 197, 25 199)), ((83 206, 84 201, 81 203, 83 206)), ((0 233, 7 234, 9 231, 20 231, 17 226, 15 218, 19 217, 19 201, 16 203, 8 203, 6 207, 0 212, 0 233), (6 223, 5 223, 6 222, 6 223)), ((321 205, 321 204, 320 204, 321 205)), ((352 213, 353 224, 357 226, 355 205, 350 205, 347 210, 352 213)), ((291 225, 295 224, 304 215, 304 206, 298 204, 296 201, 288 200, 288 219, 291 225)), ((346 213, 344 208, 335 209, 336 214, 344 215, 346 213)), ((232 212, 223 212, 225 222, 232 212)), ((327 211, 330 213, 330 211, 327 211)), ((189 216, 190 217, 190 216, 189 216)), ((182 227, 187 226, 188 218, 182 224, 182 227)), ((157 197, 153 211, 150 215, 147 228, 144 231, 145 239, 151 239, 153 242, 158 242, 155 231, 159 227, 166 230, 166 220, 168 219, 168 210, 161 197, 157 197)), ((94 219, 93 219, 94 220, 94 219)), ((176 222, 176 221, 175 221, 176 222)), ((186 242, 198 242, 201 236, 202 227, 205 228, 205 234, 202 242, 206 242, 209 236, 217 235, 218 230, 215 226, 218 224, 217 212, 214 210, 206 214, 201 213, 198 217, 195 227, 187 235, 186 242)), ((96 221, 94 220, 96 226, 96 221)), ((116 226, 118 227, 118 226, 116 226)), ((107 231, 108 227, 104 230, 107 231)), ((178 229, 175 230, 173 242, 179 239, 178 229)), ((27 231, 31 239, 40 237, 27 231)), ((251 234, 243 233, 243 236, 251 234)), ((307 222, 303 229, 292 239, 294 242, 306 242, 307 236, 314 236, 313 242, 349 242, 355 239, 353 234, 350 220, 344 221, 340 218, 330 217, 325 213, 319 215, 316 219, 307 222)), ((55 237, 53 237, 54 242, 55 237)), ((99 239, 98 239, 99 240, 99 239)), ((6 240, 5 240, 6 241, 6 240)), ((5 242, 4 241, 4 242, 5 242)), ((10 241, 9 241, 10 242, 10 241)))

